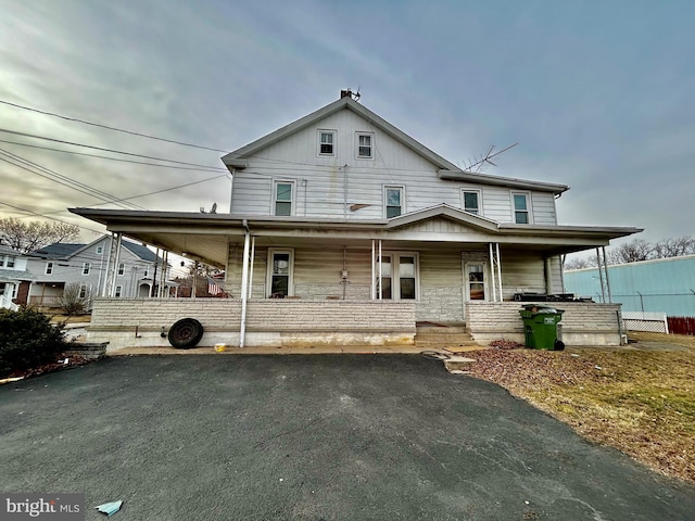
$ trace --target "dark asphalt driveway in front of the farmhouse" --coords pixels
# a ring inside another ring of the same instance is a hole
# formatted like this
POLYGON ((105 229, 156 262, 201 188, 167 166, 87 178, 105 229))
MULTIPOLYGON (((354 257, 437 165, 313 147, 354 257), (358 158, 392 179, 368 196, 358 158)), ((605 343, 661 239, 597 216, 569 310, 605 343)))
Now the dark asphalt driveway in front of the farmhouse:
POLYGON ((695 487, 407 355, 139 356, 0 387, 0 490, 114 520, 694 519, 695 487))

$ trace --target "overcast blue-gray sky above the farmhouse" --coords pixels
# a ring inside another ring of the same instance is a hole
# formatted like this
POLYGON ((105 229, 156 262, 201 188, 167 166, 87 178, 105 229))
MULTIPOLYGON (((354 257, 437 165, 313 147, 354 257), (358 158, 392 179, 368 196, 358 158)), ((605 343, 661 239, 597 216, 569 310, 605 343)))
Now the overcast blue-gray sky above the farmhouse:
MULTIPOLYGON (((695 234, 690 0, 0 0, 0 101, 231 151, 359 88, 361 103, 462 167, 518 142, 485 173, 569 185, 560 224, 642 227, 647 241, 695 234)), ((2 103, 0 128, 223 166, 222 152, 2 103)), ((65 212, 101 200, 7 162, 21 160, 117 198, 223 176, 130 201, 229 205, 222 169, 0 142, 0 218, 29 216, 10 204, 103 230, 65 212)))

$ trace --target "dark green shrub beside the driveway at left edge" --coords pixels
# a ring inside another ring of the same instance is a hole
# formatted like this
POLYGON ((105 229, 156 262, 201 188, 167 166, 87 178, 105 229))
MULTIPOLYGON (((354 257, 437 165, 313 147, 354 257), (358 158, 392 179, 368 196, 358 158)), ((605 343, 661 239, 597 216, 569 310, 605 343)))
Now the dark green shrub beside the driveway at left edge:
POLYGON ((55 360, 67 346, 62 328, 29 307, 0 309, 0 377, 55 360))

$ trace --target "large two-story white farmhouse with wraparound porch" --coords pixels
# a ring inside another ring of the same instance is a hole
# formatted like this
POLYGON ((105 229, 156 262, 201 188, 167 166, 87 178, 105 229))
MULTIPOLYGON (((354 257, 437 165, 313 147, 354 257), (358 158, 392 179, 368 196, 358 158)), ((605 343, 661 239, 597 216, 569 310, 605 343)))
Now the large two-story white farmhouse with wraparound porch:
MULTIPOLYGON (((640 231, 560 226, 568 187, 465 171, 342 94, 223 157, 230 214, 72 209, 225 269, 232 296, 98 301, 94 338, 193 317, 206 345, 408 343, 418 322, 522 340, 515 294, 563 293, 560 255, 640 231)), ((618 305, 564 307, 567 343, 619 342, 618 305)))

